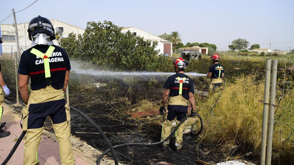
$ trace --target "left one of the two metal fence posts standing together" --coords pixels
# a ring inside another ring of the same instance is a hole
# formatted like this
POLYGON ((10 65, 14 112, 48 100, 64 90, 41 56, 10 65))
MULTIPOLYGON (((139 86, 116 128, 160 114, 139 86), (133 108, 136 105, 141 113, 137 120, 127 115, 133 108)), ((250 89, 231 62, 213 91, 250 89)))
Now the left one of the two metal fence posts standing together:
POLYGON ((270 65, 271 65, 271 59, 266 59, 260 165, 265 165, 266 134, 267 134, 267 125, 268 125, 268 101, 269 101, 269 94, 270 94, 270 65))

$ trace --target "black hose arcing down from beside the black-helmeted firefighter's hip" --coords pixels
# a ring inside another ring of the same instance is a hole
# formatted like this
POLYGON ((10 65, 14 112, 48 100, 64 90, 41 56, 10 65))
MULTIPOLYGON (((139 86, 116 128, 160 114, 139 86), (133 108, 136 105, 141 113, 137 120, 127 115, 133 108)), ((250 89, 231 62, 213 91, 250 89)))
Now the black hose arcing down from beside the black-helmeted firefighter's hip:
POLYGON ((88 117, 82 111, 80 111, 80 110, 78 110, 78 109, 76 109, 75 107, 72 107, 72 106, 69 106, 69 107, 71 108, 71 110, 77 112, 78 114, 80 114, 81 116, 83 116, 85 119, 87 119, 88 122, 90 122, 97 129, 97 131, 100 133, 100 135, 103 137, 103 139, 107 143, 107 145, 109 147, 109 150, 111 151, 111 153, 113 155, 114 164, 115 165, 118 165, 118 160, 117 160, 117 156, 116 156, 114 147, 112 146, 112 144, 110 143, 110 141, 108 140, 108 138, 106 137, 106 135, 104 134, 104 132, 98 127, 98 125, 90 117, 88 117))

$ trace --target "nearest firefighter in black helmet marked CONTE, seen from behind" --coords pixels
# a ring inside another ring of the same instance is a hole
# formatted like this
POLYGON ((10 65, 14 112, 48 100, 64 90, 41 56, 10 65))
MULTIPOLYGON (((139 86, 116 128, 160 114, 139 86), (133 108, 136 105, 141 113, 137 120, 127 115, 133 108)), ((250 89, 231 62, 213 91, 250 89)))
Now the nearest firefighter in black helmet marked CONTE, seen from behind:
POLYGON ((49 19, 33 18, 28 32, 32 45, 36 45, 22 53, 18 70, 19 92, 26 104, 22 109, 22 129, 26 131, 23 164, 39 164, 38 145, 44 121, 49 116, 58 140, 61 164, 74 165, 69 106, 64 99, 71 69, 69 57, 64 49, 53 44, 55 33, 49 19))

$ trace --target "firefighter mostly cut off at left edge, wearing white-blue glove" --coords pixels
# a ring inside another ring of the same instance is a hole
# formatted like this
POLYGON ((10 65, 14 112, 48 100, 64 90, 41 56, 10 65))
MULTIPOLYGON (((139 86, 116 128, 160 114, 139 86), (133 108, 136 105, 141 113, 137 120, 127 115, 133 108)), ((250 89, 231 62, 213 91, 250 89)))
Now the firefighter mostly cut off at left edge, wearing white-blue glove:
MULTIPOLYGON (((0 37, 0 43, 2 42, 2 37, 0 37)), ((0 122, 1 122, 1 116, 3 114, 3 104, 4 104, 4 96, 8 96, 10 94, 10 90, 6 86, 2 73, 1 73, 1 64, 0 64, 0 122)), ((7 137, 10 135, 9 131, 4 131, 2 128, 5 126, 5 122, 2 122, 0 125, 0 138, 7 137)))

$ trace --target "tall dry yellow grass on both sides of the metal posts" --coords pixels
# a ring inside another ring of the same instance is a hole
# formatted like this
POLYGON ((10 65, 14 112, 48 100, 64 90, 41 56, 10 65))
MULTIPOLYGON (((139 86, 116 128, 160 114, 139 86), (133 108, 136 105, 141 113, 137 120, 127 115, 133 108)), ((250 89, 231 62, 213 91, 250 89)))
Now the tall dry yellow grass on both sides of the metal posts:
MULTIPOLYGON (((293 88, 287 86, 287 89, 293 88)), ((204 102, 196 97, 196 109, 204 122, 199 140, 259 152, 263 103, 258 100, 263 100, 264 80, 256 81, 255 76, 248 75, 236 78, 234 83, 227 83, 216 107, 210 112, 219 92, 211 93, 204 102)), ((276 105, 284 108, 276 107, 275 110, 273 148, 293 151, 294 91, 287 90, 283 93, 283 90, 277 90, 276 97, 276 105)))

